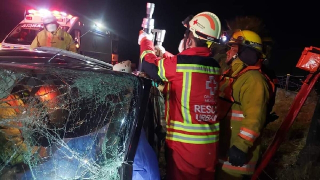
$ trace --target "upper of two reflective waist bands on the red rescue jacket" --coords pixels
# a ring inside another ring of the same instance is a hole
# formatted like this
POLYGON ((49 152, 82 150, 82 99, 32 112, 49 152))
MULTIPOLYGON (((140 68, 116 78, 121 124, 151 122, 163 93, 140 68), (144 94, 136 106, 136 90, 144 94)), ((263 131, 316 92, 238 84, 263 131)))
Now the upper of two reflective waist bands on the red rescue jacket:
POLYGON ((219 123, 215 124, 183 124, 178 121, 170 121, 168 126, 171 129, 185 131, 189 133, 211 133, 219 131, 219 123))

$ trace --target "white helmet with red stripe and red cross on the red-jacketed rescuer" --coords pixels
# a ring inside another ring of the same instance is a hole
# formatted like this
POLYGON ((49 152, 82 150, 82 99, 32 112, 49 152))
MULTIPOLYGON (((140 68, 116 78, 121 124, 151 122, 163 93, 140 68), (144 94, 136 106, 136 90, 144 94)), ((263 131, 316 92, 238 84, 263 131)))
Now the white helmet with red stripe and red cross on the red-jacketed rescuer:
MULTIPOLYGON (((184 24, 187 27, 187 24, 184 24)), ((219 43, 221 35, 221 23, 219 18, 212 12, 196 14, 188 24, 193 36, 210 42, 219 43)))

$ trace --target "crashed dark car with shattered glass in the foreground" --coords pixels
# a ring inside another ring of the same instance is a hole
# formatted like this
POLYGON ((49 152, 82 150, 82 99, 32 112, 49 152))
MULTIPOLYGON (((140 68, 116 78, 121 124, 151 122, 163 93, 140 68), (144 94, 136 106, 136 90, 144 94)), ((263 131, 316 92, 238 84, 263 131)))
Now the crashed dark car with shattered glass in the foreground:
POLYGON ((0 51, 1 180, 159 180, 152 81, 56 48, 0 51))

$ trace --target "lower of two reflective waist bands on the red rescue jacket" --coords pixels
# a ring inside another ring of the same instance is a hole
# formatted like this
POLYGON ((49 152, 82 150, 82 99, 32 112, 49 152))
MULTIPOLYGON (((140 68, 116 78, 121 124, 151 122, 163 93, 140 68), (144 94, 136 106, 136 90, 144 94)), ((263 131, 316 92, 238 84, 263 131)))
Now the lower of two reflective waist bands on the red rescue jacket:
POLYGON ((219 135, 186 135, 177 132, 166 133, 166 139, 190 144, 209 144, 219 141, 219 135))

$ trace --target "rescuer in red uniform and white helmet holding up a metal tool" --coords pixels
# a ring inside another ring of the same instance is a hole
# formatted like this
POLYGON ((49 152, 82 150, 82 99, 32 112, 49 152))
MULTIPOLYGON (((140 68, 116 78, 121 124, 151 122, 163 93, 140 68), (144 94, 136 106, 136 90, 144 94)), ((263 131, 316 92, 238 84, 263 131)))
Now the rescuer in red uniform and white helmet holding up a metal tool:
POLYGON ((213 180, 219 136, 219 65, 209 46, 219 42, 220 21, 211 12, 201 12, 185 27, 183 51, 166 58, 155 55, 152 34, 140 31, 140 59, 158 66, 158 76, 167 82, 163 89, 167 180, 213 180))

